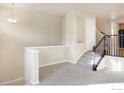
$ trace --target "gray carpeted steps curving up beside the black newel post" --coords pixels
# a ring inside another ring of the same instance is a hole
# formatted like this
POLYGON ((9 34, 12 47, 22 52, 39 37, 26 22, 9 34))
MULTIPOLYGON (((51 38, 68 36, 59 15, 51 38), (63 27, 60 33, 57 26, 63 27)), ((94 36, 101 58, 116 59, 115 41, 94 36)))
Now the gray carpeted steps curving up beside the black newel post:
POLYGON ((101 58, 102 57, 99 54, 88 51, 80 57, 80 59, 78 60, 78 64, 86 68, 93 69, 93 65, 98 64, 101 58))

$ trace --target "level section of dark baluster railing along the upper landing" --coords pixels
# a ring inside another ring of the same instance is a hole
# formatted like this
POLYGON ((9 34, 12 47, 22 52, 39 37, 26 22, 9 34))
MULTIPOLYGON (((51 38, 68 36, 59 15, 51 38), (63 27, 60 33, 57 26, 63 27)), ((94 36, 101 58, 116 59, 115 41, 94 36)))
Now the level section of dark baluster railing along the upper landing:
POLYGON ((124 35, 107 35, 106 55, 124 57, 124 35))

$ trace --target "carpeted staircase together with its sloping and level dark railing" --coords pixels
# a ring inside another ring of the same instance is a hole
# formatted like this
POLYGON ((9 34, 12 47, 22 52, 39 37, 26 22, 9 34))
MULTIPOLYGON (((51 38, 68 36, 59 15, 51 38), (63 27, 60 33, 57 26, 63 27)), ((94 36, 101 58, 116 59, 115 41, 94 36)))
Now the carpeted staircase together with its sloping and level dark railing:
POLYGON ((124 35, 106 35, 102 33, 103 37, 99 40, 92 51, 84 53, 78 60, 78 64, 97 70, 99 63, 105 55, 124 57, 124 35))

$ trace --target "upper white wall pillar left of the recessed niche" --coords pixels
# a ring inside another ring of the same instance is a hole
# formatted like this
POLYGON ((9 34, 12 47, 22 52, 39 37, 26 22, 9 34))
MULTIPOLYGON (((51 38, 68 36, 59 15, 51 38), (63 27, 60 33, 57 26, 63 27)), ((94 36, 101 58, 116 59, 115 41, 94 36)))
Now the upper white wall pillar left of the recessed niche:
POLYGON ((77 43, 77 16, 75 11, 70 11, 65 15, 65 44, 77 43))

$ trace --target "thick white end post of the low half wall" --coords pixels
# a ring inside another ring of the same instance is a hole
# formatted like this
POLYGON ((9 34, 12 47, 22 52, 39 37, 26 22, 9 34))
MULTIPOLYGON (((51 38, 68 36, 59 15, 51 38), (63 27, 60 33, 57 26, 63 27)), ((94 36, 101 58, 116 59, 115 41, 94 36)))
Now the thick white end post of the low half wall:
POLYGON ((25 81, 26 84, 39 84, 39 50, 25 48, 25 81))

